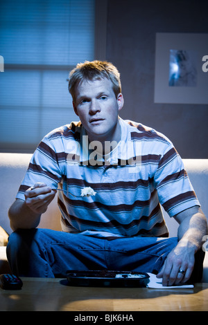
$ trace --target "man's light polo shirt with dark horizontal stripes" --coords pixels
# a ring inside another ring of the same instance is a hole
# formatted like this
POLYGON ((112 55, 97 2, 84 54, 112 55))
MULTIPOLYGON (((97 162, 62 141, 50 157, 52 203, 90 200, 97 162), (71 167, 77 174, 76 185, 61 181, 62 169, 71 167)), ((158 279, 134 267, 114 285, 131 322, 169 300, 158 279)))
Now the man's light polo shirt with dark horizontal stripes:
POLYGON ((106 148, 89 144, 81 122, 51 131, 35 150, 17 198, 46 183, 73 194, 58 192, 64 232, 109 239, 168 236, 161 205, 170 216, 200 205, 182 159, 162 133, 130 120, 119 123, 120 142, 106 142, 106 148), (85 187, 96 195, 80 196, 85 187))

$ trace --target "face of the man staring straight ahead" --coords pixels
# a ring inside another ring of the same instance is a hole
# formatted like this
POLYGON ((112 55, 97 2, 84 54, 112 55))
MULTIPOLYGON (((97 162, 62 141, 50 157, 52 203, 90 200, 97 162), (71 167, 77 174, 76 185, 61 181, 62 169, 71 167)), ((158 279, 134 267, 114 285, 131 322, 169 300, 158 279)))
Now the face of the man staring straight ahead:
POLYGON ((121 130, 118 114, 123 107, 123 95, 115 96, 107 78, 83 80, 75 89, 73 109, 87 131, 90 141, 119 142, 121 130))

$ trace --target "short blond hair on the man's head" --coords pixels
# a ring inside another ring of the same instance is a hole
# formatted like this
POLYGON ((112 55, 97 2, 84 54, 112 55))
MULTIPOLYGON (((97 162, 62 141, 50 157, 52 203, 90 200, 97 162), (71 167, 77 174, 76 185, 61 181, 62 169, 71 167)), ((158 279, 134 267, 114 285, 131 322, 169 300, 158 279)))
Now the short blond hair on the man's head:
POLYGON ((75 87, 79 82, 99 78, 107 78, 112 82, 112 89, 116 97, 121 93, 120 73, 112 63, 98 60, 85 61, 78 63, 69 73, 69 93, 71 93, 73 100, 75 100, 75 87))

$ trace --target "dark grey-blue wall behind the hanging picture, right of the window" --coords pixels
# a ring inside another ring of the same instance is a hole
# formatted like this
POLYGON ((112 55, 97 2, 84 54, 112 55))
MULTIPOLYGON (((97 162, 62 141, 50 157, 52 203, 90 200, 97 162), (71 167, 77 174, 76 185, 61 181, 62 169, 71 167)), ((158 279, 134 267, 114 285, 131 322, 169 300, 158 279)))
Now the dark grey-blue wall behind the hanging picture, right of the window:
POLYGON ((182 158, 208 158, 208 105, 154 103, 155 36, 156 32, 207 33, 207 12, 207 0, 107 3, 106 59, 121 73, 125 100, 121 118, 164 133, 182 158))

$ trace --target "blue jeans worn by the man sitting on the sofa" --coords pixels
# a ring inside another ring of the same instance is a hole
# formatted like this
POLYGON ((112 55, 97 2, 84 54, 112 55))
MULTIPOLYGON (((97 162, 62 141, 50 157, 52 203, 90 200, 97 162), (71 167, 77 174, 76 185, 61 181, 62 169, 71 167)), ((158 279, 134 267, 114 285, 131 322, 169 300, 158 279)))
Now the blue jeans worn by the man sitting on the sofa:
POLYGON ((64 277, 67 270, 129 270, 157 274, 177 238, 98 239, 55 230, 18 230, 8 261, 19 277, 64 277))

